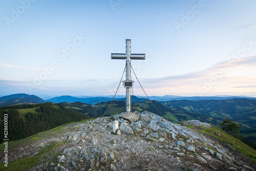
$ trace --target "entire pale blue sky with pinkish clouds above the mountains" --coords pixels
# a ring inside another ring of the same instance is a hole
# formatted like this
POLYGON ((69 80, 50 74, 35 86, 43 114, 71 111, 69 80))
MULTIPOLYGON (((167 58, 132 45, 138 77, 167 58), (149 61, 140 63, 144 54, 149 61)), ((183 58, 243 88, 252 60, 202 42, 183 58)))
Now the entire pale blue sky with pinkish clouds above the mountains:
POLYGON ((131 65, 148 96, 256 97, 254 0, 0 3, 2 96, 113 95, 125 60, 111 53, 131 39, 146 54, 131 65))

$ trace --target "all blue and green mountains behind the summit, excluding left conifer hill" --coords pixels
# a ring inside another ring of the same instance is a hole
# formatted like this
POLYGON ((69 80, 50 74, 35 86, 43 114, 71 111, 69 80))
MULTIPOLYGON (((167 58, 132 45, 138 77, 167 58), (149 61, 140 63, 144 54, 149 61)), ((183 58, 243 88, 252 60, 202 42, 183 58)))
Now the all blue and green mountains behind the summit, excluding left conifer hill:
MULTIPOLYGON (((81 96, 82 97, 82 96, 81 96)), ((119 96, 122 97, 122 96, 119 96)), ((256 135, 256 98, 243 97, 176 97, 176 96, 151 96, 154 105, 143 96, 132 96, 134 110, 145 110, 153 113, 161 112, 160 116, 167 118, 173 122, 182 120, 198 119, 202 122, 209 122, 218 125, 225 118, 236 121, 240 126, 240 131, 244 134, 256 135), (141 98, 139 98, 141 97, 141 98), (176 100, 168 100, 175 98, 176 100), (178 100, 180 98, 188 98, 194 100, 178 100), (196 99, 207 100, 196 100, 196 99), (214 99, 211 99, 214 98, 214 99), (217 98, 217 100, 216 100, 217 98), (228 98, 228 99, 226 99, 228 98), (163 100, 164 101, 161 101, 163 100), (221 100, 220 100, 221 99, 221 100), (159 101, 160 100, 160 101, 159 101), (158 101, 158 102, 157 102, 158 101), (160 103, 159 103, 160 102, 160 103)), ((73 96, 60 96, 48 100, 41 99, 35 95, 13 94, 0 97, 0 107, 18 104, 34 104, 34 103, 60 103, 66 108, 79 113, 88 113, 91 117, 100 117, 108 108, 108 104, 113 97, 86 97, 78 98, 73 96)), ((124 112, 125 98, 115 98, 112 108, 106 113, 110 116, 124 112), (122 101, 122 102, 121 102, 122 101)))

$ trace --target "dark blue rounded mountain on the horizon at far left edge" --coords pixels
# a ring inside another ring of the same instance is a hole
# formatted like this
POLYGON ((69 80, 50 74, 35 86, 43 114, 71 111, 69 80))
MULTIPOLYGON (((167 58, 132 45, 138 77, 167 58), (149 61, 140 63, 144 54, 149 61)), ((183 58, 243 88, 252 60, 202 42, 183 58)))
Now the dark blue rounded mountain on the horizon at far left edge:
POLYGON ((45 103, 44 99, 35 95, 28 94, 13 94, 9 96, 0 97, 0 107, 9 105, 21 105, 21 104, 33 104, 33 103, 45 103))

